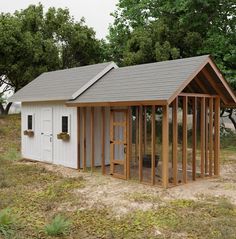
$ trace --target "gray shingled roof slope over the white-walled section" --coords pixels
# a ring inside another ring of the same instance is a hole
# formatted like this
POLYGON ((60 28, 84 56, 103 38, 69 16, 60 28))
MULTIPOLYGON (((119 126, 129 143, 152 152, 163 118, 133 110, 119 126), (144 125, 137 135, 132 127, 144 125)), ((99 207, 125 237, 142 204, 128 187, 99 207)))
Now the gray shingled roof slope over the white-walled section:
POLYGON ((16 92, 10 101, 69 100, 72 95, 109 64, 102 63, 41 74, 16 92))

